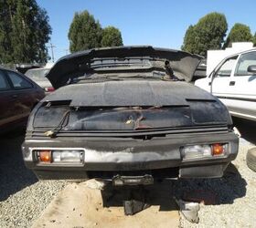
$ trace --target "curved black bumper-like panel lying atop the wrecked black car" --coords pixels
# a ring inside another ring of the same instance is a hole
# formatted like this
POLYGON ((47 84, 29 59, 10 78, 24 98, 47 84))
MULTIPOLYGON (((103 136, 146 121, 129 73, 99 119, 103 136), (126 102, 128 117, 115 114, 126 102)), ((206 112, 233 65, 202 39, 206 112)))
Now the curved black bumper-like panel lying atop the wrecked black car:
POLYGON ((61 57, 47 78, 54 88, 60 88, 84 75, 150 72, 168 61, 177 78, 191 81, 201 59, 187 52, 157 47, 95 48, 61 57))

